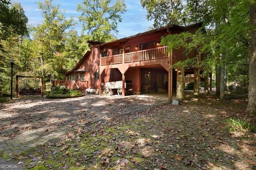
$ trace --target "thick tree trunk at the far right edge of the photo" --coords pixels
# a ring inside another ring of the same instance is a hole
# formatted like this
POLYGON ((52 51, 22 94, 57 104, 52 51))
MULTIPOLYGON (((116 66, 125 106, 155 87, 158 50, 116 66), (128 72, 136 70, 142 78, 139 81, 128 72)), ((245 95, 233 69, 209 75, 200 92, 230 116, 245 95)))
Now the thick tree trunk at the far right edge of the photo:
POLYGON ((249 10, 250 24, 253 29, 250 32, 250 61, 249 61, 249 94, 248 106, 249 113, 256 115, 256 1, 250 4, 249 10))

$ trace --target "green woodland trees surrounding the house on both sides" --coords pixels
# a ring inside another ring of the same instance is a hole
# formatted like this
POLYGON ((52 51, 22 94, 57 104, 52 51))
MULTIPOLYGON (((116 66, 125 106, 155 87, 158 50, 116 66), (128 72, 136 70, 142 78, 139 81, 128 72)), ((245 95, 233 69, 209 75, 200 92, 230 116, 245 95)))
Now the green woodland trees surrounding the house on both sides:
MULTIPOLYGON (((89 49, 86 41, 111 41, 122 22, 124 1, 84 0, 77 10, 83 32, 70 29, 74 20, 65 18, 53 1, 38 3, 43 23, 28 25, 28 19, 19 4, 9 0, 0 3, 0 95, 10 93, 10 59, 15 61, 14 74, 42 75, 45 83, 63 79, 89 49)), ((256 52, 255 0, 141 0, 153 28, 168 24, 203 22, 203 29, 195 35, 181 33, 162 39, 169 50, 180 46, 189 52, 196 49, 193 60, 180 62, 175 67, 203 67, 204 74, 216 74, 217 94, 225 97, 227 82, 236 82, 249 96, 248 109, 256 112, 256 52), (206 57, 202 58, 202 54, 206 57)))

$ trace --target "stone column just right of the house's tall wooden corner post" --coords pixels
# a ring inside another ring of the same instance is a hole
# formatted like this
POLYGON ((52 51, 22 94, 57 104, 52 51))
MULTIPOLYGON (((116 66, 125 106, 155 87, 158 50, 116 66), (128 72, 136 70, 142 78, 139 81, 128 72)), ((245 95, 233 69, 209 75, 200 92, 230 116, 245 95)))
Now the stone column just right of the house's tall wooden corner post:
POLYGON ((185 88, 185 69, 184 67, 180 67, 177 69, 177 99, 183 99, 184 98, 184 88, 185 88))

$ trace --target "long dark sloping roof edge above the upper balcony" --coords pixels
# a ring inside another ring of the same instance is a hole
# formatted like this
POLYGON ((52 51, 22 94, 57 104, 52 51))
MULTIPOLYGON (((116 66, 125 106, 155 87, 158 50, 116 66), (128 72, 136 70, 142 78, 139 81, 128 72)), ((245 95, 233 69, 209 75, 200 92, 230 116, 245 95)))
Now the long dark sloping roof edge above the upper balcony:
POLYGON ((141 36, 141 35, 147 35, 148 33, 156 32, 156 31, 160 31, 160 30, 164 30, 164 29, 170 29, 170 28, 188 29, 188 28, 191 28, 191 27, 195 27, 196 25, 199 25, 201 27, 202 24, 203 24, 202 22, 197 22, 197 23, 193 23, 193 24, 189 24, 189 25, 185 25, 185 26, 171 24, 171 25, 167 25, 166 27, 162 27, 162 28, 158 28, 158 29, 155 29, 155 30, 150 30, 150 31, 142 32, 142 33, 137 33, 137 35, 133 35, 133 36, 130 36, 130 37, 125 37, 125 38, 121 38, 121 39, 118 39, 118 40, 110 41, 108 43, 101 43, 101 44, 95 45, 95 46, 101 47, 101 46, 104 46, 104 45, 114 44, 114 43, 118 43, 118 42, 128 40, 128 39, 133 38, 133 37, 137 37, 137 36, 141 36))

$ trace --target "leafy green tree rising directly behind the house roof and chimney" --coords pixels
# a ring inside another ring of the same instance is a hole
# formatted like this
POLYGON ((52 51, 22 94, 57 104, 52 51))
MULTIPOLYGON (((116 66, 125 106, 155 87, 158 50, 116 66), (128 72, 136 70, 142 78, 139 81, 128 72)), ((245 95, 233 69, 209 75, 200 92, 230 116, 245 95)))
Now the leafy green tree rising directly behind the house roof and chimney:
POLYGON ((84 0, 77 10, 82 12, 79 21, 83 23, 83 31, 93 40, 107 42, 113 40, 113 32, 118 32, 117 24, 122 22, 126 6, 123 0, 116 0, 112 6, 110 0, 84 0))

